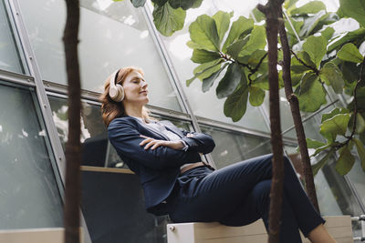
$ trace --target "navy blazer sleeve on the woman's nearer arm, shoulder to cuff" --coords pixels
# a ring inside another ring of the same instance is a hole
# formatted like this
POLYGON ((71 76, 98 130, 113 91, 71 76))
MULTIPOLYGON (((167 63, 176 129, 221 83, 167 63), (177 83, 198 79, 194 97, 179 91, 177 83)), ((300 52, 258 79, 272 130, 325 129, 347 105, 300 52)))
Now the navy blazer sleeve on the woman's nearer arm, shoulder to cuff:
POLYGON ((157 147, 145 150, 141 146, 141 133, 137 127, 122 119, 110 123, 108 127, 110 143, 122 157, 129 157, 140 162, 145 167, 162 169, 165 167, 181 167, 186 163, 201 161, 195 151, 176 150, 170 147, 157 147))

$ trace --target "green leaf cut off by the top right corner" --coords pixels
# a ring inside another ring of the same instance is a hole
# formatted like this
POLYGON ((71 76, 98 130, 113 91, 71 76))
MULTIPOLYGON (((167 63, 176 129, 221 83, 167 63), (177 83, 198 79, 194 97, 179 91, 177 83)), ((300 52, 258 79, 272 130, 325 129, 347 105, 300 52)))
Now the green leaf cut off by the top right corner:
POLYGON ((363 0, 339 0, 341 11, 356 19, 360 25, 365 26, 365 1, 363 0))

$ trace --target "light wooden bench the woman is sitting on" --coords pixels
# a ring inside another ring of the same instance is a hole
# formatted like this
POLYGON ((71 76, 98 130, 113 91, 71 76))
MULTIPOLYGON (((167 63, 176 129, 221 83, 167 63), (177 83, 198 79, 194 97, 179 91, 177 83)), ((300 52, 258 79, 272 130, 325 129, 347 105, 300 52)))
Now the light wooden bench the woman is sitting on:
MULTIPOLYGON (((349 216, 325 217, 325 227, 338 243, 353 242, 349 216)), ((303 242, 310 242, 304 238, 303 242)), ((219 223, 182 223, 167 225, 168 243, 266 243, 267 234, 262 220, 244 227, 227 227, 219 223)))

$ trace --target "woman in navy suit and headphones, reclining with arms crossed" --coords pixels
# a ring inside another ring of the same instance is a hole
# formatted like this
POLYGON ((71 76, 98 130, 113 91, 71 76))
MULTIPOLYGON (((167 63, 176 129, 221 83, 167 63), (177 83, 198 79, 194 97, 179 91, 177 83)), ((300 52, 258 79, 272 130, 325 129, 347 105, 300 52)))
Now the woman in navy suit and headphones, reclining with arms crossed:
MULTIPOLYGON (((244 226, 263 218, 267 228, 271 155, 214 170, 200 155, 214 149, 213 138, 152 119, 147 87, 141 69, 125 67, 107 79, 101 96, 110 142, 140 177, 147 210, 176 223, 244 226)), ((285 157, 281 242, 301 242, 298 228, 312 242, 335 242, 324 222, 285 157)))

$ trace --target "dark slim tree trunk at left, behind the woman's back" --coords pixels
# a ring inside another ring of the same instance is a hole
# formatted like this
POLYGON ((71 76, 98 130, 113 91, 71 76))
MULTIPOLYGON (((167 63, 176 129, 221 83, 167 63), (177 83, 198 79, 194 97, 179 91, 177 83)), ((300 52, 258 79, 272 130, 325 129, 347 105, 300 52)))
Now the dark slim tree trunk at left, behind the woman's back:
POLYGON ((65 242, 79 243, 80 206, 80 76, 78 68, 78 0, 66 0, 67 22, 63 41, 68 74, 68 142, 66 144, 65 242))

